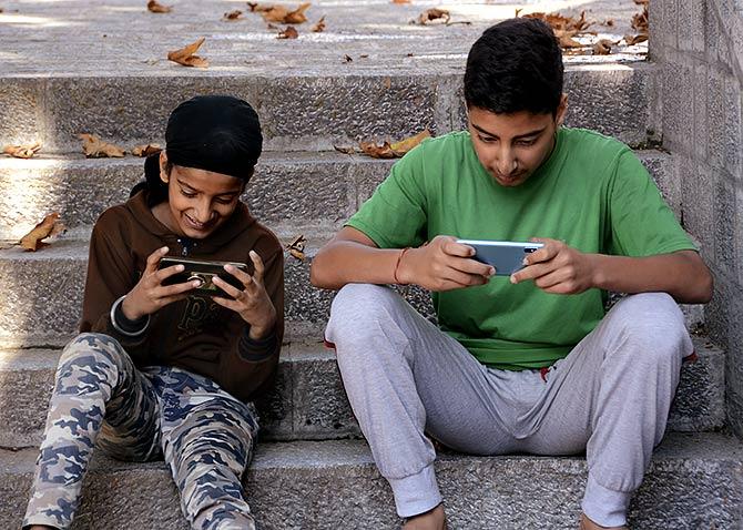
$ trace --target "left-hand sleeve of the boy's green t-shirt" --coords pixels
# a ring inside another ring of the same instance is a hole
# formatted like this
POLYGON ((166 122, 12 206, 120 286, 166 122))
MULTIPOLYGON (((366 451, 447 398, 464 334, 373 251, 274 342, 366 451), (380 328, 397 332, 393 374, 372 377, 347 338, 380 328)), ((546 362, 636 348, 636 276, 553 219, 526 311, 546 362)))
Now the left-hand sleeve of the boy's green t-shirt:
POLYGON ((346 226, 364 232, 379 248, 420 246, 426 242, 425 145, 393 166, 346 226))

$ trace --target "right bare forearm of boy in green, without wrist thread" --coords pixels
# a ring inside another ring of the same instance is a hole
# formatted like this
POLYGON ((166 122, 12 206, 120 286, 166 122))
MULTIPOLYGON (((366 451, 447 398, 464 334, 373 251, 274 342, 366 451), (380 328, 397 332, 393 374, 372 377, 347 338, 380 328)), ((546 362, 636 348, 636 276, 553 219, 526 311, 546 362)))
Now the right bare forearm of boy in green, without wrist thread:
POLYGON ((668 293, 686 304, 704 304, 712 297, 712 275, 693 251, 648 257, 591 254, 590 259, 593 287, 617 293, 668 293))

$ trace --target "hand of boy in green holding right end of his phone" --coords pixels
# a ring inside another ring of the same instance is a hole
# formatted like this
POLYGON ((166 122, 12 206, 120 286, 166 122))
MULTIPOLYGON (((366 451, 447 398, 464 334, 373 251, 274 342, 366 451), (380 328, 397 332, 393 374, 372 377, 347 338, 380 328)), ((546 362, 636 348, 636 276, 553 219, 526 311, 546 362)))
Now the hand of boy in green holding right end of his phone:
POLYGON ((523 258, 525 268, 511 274, 511 283, 533 279, 546 293, 572 295, 593 287, 596 274, 590 254, 571 248, 561 241, 535 237, 544 246, 523 258))

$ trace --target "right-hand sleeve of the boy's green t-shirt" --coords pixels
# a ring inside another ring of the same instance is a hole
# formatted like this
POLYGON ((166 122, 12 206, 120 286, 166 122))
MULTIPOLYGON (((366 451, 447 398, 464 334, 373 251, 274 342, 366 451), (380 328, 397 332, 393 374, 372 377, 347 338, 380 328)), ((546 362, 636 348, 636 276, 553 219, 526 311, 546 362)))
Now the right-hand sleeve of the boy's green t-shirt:
POLYGON ((610 254, 632 257, 696 246, 681 227, 648 170, 629 149, 617 162, 609 192, 610 254))

